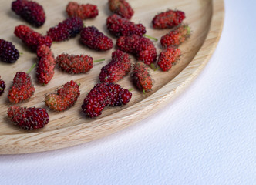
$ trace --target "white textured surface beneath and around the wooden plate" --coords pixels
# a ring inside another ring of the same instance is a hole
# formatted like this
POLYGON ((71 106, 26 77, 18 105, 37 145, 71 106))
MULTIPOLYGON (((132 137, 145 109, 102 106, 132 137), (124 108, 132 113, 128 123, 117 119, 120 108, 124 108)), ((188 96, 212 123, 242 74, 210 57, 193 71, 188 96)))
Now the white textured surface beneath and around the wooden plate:
POLYGON ((0 156, 0 184, 256 184, 256 1, 225 0, 211 60, 156 114, 63 150, 0 156))

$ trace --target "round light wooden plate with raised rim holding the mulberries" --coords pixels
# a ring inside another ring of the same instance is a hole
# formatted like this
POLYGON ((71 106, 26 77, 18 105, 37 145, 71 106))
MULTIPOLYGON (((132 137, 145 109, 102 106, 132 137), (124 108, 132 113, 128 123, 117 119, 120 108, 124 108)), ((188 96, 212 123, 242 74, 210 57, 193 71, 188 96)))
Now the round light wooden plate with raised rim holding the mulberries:
MULTIPOLYGON (((47 15, 45 25, 37 32, 45 32, 67 18, 65 8, 69 0, 40 0, 47 15)), ((83 1, 78 1, 82 3, 83 1)), ((87 1, 98 5, 99 15, 91 20, 84 21, 85 25, 95 25, 101 32, 111 35, 106 30, 106 17, 111 15, 107 8, 107 1, 87 1)), ((0 35, 2 39, 13 42, 19 52, 23 54, 14 64, 0 62, 0 75, 6 82, 5 93, 0 98, 0 153, 34 153, 46 150, 55 150, 67 146, 74 146, 96 140, 100 137, 115 133, 130 126, 148 115, 157 111, 161 107, 170 103, 180 92, 187 87, 190 82, 204 68, 210 59, 221 35, 224 20, 224 3, 222 0, 141 0, 129 1, 135 10, 133 22, 141 22, 147 27, 147 35, 152 35, 160 40, 160 37, 169 29, 154 30, 150 24, 154 15, 166 11, 168 8, 182 10, 186 13, 184 22, 188 23, 192 30, 190 39, 180 49, 182 58, 169 72, 158 70, 154 72, 150 69, 155 81, 153 91, 143 95, 138 90, 133 90, 133 98, 126 106, 107 107, 103 114, 95 119, 86 118, 82 113, 81 105, 83 99, 93 86, 99 82, 99 70, 111 59, 112 49, 108 52, 95 52, 86 46, 79 44, 79 36, 66 42, 58 42, 52 45, 52 51, 57 56, 62 52, 69 54, 86 54, 93 56, 93 59, 103 59, 105 62, 95 63, 90 72, 82 75, 69 75, 56 69, 55 76, 47 86, 41 86, 35 78, 35 70, 30 73, 32 81, 35 83, 35 95, 26 103, 20 106, 45 107, 43 103, 45 93, 54 92, 56 88, 62 86, 67 81, 75 80, 81 83, 81 96, 71 109, 64 113, 49 112, 50 122, 41 130, 25 131, 20 130, 8 120, 7 109, 12 106, 8 103, 8 89, 12 84, 15 72, 27 71, 36 62, 35 53, 32 53, 13 34, 16 25, 25 24, 21 18, 11 11, 11 3, 3 1, 0 7, 0 35)), ((113 37, 112 37, 113 38, 113 37)), ((116 38, 113 38, 116 42, 116 38)), ((159 53, 160 42, 154 42, 159 53)), ((132 57, 132 61, 135 59, 132 57)), ((126 76, 120 82, 126 89, 133 87, 130 76, 126 76)))

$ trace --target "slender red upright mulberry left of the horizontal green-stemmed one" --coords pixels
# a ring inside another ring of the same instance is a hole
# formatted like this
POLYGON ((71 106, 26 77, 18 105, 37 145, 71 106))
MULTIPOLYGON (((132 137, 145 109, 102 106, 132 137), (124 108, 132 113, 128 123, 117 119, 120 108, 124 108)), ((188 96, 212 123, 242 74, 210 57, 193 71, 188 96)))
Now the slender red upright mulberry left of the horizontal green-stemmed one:
POLYGON ((47 45, 40 45, 36 55, 39 60, 36 77, 41 84, 45 85, 49 83, 54 75, 56 61, 51 49, 47 45))

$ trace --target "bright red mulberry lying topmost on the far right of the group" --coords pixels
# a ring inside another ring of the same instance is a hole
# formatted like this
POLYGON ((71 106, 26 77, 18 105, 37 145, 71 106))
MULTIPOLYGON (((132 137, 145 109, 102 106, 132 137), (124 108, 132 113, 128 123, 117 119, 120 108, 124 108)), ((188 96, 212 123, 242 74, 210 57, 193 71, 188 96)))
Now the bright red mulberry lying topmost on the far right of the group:
POLYGON ((185 13, 179 10, 168 10, 167 12, 162 12, 156 15, 153 20, 154 29, 171 29, 180 23, 186 18, 185 13))

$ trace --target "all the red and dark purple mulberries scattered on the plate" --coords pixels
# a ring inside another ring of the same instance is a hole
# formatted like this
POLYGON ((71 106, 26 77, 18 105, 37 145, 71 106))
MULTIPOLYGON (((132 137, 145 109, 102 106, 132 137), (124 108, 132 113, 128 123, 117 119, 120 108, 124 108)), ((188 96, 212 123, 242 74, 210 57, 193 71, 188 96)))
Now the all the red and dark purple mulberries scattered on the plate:
MULTIPOLYGON (((108 0, 108 7, 113 15, 106 18, 106 29, 117 37, 117 50, 112 52, 111 61, 100 70, 99 83, 83 100, 83 113, 89 118, 101 115, 106 106, 122 106, 130 102, 130 90, 116 84, 129 73, 137 89, 143 93, 152 91, 153 78, 150 76, 149 66, 155 67, 156 64, 163 71, 168 71, 173 63, 180 59, 181 52, 178 46, 190 36, 190 27, 182 23, 185 18, 184 12, 167 10, 155 15, 151 21, 153 29, 171 29, 161 37, 160 44, 163 50, 157 55, 156 43, 150 40, 152 37, 145 35, 146 27, 130 21, 134 11, 126 0, 108 0), (135 63, 132 64, 128 53, 136 57, 135 63)), ((15 0, 12 2, 12 11, 37 28, 45 23, 45 11, 37 2, 15 0)), ((38 82, 44 86, 54 77, 56 64, 62 71, 74 75, 89 72, 93 68, 93 62, 96 62, 93 61, 93 57, 84 54, 62 53, 55 59, 51 49, 52 42, 66 41, 80 33, 80 42, 89 49, 106 52, 114 46, 113 40, 95 26, 83 25, 83 20, 99 15, 96 5, 69 2, 66 5, 66 14, 69 18, 53 25, 45 35, 35 32, 27 25, 17 25, 14 30, 16 37, 36 53, 38 62, 35 74, 38 82)), ((15 49, 15 45, 0 39, 0 60, 14 63, 18 59, 19 51, 15 49)), ((7 97, 10 103, 22 103, 35 93, 29 76, 32 68, 28 72, 16 72, 12 86, 8 90, 7 97)), ((80 96, 79 86, 80 84, 73 80, 66 82, 56 90, 56 93, 45 95, 45 106, 57 112, 71 108, 80 96)), ((0 79, 0 96, 4 91, 5 82, 0 79)), ((49 123, 49 114, 43 108, 14 105, 9 107, 7 112, 12 122, 24 130, 39 129, 49 123)))

